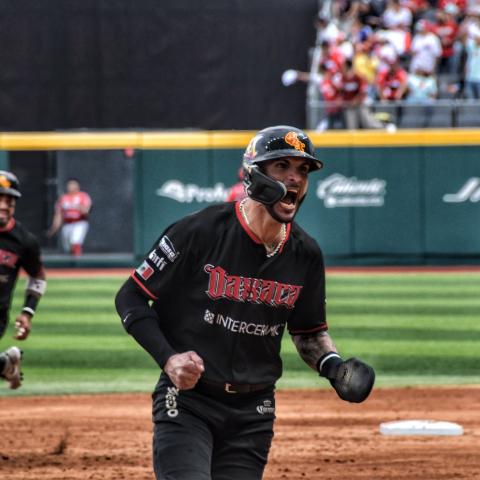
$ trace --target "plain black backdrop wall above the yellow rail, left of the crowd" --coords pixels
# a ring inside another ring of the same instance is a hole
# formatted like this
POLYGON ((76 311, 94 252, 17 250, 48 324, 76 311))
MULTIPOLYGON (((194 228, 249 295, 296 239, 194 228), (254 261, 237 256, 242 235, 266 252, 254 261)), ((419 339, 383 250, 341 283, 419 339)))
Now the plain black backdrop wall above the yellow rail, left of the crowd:
POLYGON ((317 0, 0 2, 0 129, 305 124, 317 0))

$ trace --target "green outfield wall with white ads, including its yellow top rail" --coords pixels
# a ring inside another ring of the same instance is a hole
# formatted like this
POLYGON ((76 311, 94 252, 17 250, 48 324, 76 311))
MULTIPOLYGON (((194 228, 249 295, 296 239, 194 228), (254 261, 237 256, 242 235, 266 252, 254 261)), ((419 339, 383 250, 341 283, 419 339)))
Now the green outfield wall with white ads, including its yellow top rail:
MULTIPOLYGON (((480 130, 310 133, 325 167, 297 220, 328 264, 480 263, 480 130)), ((224 201, 253 134, 0 134, 0 149, 134 148, 140 257, 178 218, 224 201)))

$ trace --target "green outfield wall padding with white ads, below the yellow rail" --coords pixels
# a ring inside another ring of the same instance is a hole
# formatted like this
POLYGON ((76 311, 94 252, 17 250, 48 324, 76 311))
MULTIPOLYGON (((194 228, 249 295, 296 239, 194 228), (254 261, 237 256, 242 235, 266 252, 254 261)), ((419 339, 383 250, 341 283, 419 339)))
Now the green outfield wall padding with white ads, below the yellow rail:
MULTIPOLYGON (((480 263, 477 145, 317 150, 325 167, 310 176, 297 220, 319 242, 327 263, 480 263)), ((137 162, 137 256, 179 217, 222 201, 242 153, 143 151, 137 162)))

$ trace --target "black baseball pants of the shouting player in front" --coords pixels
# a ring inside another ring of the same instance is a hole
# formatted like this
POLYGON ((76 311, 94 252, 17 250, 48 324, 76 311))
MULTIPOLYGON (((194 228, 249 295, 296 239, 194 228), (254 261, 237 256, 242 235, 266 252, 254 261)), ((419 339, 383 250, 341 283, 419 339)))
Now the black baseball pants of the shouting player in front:
POLYGON ((274 420, 273 387, 214 398, 178 391, 162 375, 153 394, 157 480, 261 480, 274 420))

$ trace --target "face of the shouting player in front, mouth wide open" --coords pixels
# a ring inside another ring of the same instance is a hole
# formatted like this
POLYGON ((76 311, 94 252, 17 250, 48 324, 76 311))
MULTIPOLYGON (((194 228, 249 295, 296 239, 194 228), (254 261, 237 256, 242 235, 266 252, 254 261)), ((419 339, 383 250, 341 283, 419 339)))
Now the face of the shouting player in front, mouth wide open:
POLYGON ((307 193, 309 171, 308 160, 296 157, 279 158, 266 164, 265 173, 287 187, 285 198, 272 207, 283 222, 291 222, 295 217, 300 200, 307 193))

